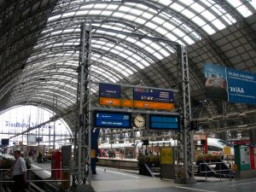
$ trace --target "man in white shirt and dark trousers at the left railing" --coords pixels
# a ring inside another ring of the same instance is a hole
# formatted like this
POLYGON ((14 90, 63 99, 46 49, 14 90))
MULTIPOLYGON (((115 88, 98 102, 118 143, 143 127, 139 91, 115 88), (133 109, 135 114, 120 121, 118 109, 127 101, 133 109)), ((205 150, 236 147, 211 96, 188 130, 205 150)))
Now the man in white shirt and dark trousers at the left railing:
POLYGON ((15 151, 14 165, 9 169, 7 173, 11 172, 15 181, 14 192, 26 191, 26 162, 21 158, 19 150, 15 151))

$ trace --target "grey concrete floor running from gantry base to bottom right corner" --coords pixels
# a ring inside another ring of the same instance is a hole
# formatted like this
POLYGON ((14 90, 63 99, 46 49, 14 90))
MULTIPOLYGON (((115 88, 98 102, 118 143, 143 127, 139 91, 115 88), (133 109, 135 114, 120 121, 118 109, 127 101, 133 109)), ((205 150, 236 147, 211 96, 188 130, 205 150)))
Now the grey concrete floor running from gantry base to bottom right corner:
MULTIPOLYGON (((220 181, 219 178, 209 177, 207 182, 182 185, 113 168, 98 167, 96 171, 97 174, 92 177, 92 186, 96 192, 256 192, 256 177, 232 179, 231 182, 229 179, 220 181)), ((204 177, 196 179, 204 180, 204 177)))

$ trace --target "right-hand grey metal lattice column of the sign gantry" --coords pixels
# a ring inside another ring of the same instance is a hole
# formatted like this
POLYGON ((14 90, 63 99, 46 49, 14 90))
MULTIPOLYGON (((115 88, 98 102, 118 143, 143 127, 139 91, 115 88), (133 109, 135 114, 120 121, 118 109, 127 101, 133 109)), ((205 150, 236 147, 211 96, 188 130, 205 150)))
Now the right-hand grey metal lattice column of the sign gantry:
POLYGON ((193 131, 189 130, 191 120, 191 102, 189 86, 189 62, 186 47, 177 45, 177 84, 179 86, 179 107, 181 109, 181 133, 177 150, 176 183, 195 183, 193 164, 193 131), (180 152, 181 151, 181 152, 180 152))

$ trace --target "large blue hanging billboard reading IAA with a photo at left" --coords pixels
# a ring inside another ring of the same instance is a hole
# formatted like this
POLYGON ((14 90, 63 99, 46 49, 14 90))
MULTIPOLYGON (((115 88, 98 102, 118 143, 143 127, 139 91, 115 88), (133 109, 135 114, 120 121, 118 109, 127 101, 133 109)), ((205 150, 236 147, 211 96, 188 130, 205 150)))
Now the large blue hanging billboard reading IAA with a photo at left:
POLYGON ((207 98, 256 104, 256 74, 207 63, 205 77, 207 98))

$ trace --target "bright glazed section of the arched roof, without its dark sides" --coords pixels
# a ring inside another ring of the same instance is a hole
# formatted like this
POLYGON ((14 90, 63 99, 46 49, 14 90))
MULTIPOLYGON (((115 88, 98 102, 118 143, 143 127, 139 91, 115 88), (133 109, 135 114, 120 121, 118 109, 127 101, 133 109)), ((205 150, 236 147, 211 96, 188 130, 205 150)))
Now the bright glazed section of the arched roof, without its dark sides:
MULTIPOLYGON (((255 15, 255 9, 255 1, 240 0, 60 0, 49 14, 4 108, 38 99, 48 105, 54 96, 60 99, 60 113, 74 105, 82 22, 95 26, 91 41, 93 81, 132 84, 141 79, 147 85, 167 88, 175 84, 176 50, 164 42, 122 33, 131 32, 193 47, 191 87, 199 90, 201 64, 194 62, 201 55, 194 47, 205 46, 199 47, 205 60, 210 57, 207 50, 213 49, 212 55, 225 61, 228 56, 218 51, 211 37, 230 26, 247 24, 245 20, 255 15)), ((96 93, 97 87, 92 91, 96 93)))

